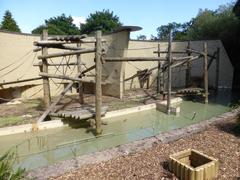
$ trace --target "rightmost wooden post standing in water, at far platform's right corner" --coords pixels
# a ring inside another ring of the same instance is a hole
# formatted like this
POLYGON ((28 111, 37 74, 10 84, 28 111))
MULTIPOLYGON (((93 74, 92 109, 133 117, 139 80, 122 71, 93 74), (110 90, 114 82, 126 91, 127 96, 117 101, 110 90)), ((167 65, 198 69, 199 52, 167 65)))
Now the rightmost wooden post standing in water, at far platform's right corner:
POLYGON ((204 42, 203 44, 204 49, 204 90, 205 90, 205 104, 208 103, 208 49, 207 49, 207 42, 204 42))

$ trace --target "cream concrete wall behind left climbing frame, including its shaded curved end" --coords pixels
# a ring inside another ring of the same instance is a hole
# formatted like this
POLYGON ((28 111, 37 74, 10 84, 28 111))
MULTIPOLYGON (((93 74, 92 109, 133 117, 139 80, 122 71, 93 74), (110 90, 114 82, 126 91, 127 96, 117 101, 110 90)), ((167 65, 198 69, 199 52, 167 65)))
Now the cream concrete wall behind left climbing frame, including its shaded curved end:
MULTIPOLYGON (((107 50, 107 56, 124 56, 124 50, 128 47, 129 31, 119 31, 104 35, 106 40, 104 46, 107 50), (117 49, 117 50, 116 50, 117 49)), ((9 33, 0 31, 0 83, 16 81, 22 79, 28 79, 33 77, 39 77, 39 67, 33 66, 40 60, 37 56, 41 54, 33 53, 32 50, 36 47, 33 46, 33 42, 40 39, 40 36, 21 34, 21 33, 9 33)), ((83 48, 94 47, 94 44, 83 44, 83 48)), ((48 53, 59 52, 61 50, 49 49, 48 53)), ((85 64, 83 69, 86 69, 94 65, 94 53, 81 55, 82 62, 85 64)), ((76 62, 76 56, 64 57, 64 58, 51 58, 49 63, 66 63, 76 62)), ((123 91, 123 63, 108 63, 103 65, 103 81, 108 81, 110 84, 103 86, 103 93, 106 95, 112 95, 120 97, 123 91)), ((77 68, 73 66, 60 67, 56 69, 53 66, 49 66, 50 74, 66 74, 74 77, 77 74, 77 68)), ((84 77, 86 80, 94 80, 94 70, 89 72, 84 77)), ((58 95, 64 88, 64 84, 67 81, 50 79, 51 95, 58 95)), ((86 92, 94 93, 94 84, 84 84, 86 92)), ((73 88, 71 92, 76 92, 73 88)), ((70 93, 71 93, 70 92, 70 93)), ((3 85, 0 87, 0 97, 2 98, 37 98, 42 97, 42 80, 3 85)))

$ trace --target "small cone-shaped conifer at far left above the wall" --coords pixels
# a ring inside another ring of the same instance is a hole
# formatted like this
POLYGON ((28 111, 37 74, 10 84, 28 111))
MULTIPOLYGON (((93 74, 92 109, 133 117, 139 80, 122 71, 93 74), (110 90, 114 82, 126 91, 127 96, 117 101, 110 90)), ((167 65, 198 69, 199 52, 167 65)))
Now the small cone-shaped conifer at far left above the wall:
POLYGON ((12 32, 21 32, 16 21, 12 17, 12 13, 9 10, 5 11, 0 29, 12 32))

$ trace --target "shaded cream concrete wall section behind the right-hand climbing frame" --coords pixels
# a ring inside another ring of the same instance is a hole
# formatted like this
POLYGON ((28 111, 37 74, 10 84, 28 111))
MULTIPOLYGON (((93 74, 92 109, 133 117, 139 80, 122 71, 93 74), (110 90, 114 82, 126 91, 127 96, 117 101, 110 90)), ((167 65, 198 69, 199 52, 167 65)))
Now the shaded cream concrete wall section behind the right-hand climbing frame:
MULTIPOLYGON (((153 51, 157 50, 159 42, 154 41, 135 41, 131 40, 129 42, 129 49, 127 50, 128 57, 157 57, 157 54, 154 54, 153 51)), ((229 57, 223 47, 223 44, 219 40, 210 40, 207 41, 208 52, 213 54, 217 47, 220 47, 220 72, 219 72, 219 88, 231 88, 232 79, 233 79, 233 67, 229 60, 229 57)), ((160 42, 160 48, 162 51, 167 51, 167 42, 160 42)), ((173 51, 184 51, 187 47, 187 42, 173 42, 172 49, 173 51)), ((203 41, 191 41, 191 48, 202 51, 203 50, 203 41)), ((193 54, 196 55, 196 54, 193 54)), ((161 57, 165 57, 166 54, 161 54, 161 57)), ((174 54, 174 57, 186 56, 180 54, 174 54)), ((156 67, 157 62, 130 62, 126 64, 125 68, 125 78, 131 77, 136 74, 137 70, 150 69, 156 67)), ((215 71, 216 71, 215 61, 212 63, 209 69, 209 86, 215 88, 215 71)), ((172 85, 173 87, 183 87, 185 85, 185 72, 186 67, 174 68, 172 75, 172 85)), ((203 60, 196 60, 192 64, 191 70, 193 77, 202 77, 203 73, 203 60)), ((156 71, 153 72, 151 76, 151 83, 156 84, 156 71)), ((138 88, 139 80, 135 78, 132 82, 125 82, 125 89, 138 88)))

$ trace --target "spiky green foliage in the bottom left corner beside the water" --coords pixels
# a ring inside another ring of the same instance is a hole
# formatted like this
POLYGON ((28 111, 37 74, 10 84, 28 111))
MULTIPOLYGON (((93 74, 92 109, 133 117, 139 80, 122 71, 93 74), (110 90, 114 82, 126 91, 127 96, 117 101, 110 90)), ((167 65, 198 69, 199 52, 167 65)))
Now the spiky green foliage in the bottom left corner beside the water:
POLYGON ((0 157, 0 179, 1 180, 19 180, 24 179, 25 169, 13 169, 15 154, 7 152, 0 157))

